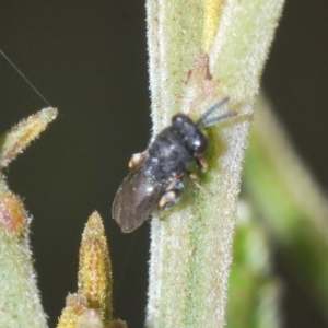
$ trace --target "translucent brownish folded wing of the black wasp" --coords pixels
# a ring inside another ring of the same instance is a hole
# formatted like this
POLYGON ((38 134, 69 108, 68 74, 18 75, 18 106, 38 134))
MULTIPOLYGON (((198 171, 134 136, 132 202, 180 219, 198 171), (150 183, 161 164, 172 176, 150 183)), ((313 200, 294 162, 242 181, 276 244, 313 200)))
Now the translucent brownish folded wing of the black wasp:
POLYGON ((144 165, 130 171, 120 185, 112 208, 112 216, 124 233, 147 221, 163 195, 161 184, 147 176, 144 165))

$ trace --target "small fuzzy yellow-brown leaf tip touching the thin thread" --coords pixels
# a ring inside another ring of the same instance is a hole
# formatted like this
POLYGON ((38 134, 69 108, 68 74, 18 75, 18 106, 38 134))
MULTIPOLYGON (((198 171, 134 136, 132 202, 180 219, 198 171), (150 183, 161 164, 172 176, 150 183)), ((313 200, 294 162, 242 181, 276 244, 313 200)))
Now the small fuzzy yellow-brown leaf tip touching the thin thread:
POLYGON ((23 152, 56 116, 57 109, 48 107, 31 115, 14 126, 1 140, 0 168, 8 166, 17 154, 23 152))

